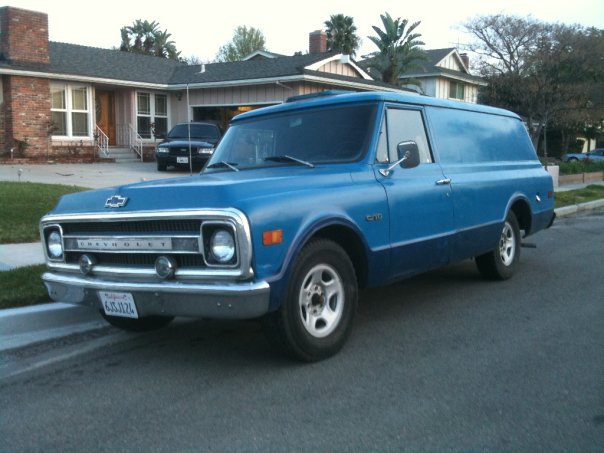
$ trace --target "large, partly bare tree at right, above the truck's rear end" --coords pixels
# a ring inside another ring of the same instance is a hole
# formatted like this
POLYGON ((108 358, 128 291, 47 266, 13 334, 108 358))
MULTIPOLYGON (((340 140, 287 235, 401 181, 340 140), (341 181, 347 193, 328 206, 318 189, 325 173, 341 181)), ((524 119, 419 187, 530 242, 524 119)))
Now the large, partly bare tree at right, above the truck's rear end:
POLYGON ((479 100, 522 115, 536 148, 549 124, 576 121, 593 104, 592 87, 604 74, 601 34, 503 15, 477 17, 464 27, 476 38, 468 50, 478 55, 488 81, 479 100))

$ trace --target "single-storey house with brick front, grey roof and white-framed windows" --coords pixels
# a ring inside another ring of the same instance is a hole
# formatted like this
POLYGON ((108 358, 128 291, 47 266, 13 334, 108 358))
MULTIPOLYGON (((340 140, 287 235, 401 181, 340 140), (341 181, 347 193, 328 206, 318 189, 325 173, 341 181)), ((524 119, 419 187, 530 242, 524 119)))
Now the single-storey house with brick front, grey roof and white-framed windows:
POLYGON ((241 111, 328 89, 399 91, 346 55, 256 53, 187 65, 119 50, 49 42, 45 13, 0 8, 0 161, 92 161, 114 149, 152 159, 155 133, 188 120, 223 126, 241 111))

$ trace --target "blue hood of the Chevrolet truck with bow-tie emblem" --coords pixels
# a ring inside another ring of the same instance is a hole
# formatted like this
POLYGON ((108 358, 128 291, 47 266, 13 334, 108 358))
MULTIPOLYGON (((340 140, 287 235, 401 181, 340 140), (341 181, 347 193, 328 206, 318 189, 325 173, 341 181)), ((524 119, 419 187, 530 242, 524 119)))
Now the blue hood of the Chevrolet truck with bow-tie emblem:
MULTIPOLYGON (((358 171, 358 164, 354 167, 358 171)), ((352 167, 279 166, 265 169, 202 173, 171 179, 130 184, 121 187, 79 192, 63 196, 49 214, 126 213, 174 209, 238 208, 245 210, 250 201, 269 199, 276 194, 283 199, 288 192, 312 190, 351 183, 352 167), (126 200, 124 200, 126 198, 126 200), (121 207, 107 207, 112 199, 121 207)))

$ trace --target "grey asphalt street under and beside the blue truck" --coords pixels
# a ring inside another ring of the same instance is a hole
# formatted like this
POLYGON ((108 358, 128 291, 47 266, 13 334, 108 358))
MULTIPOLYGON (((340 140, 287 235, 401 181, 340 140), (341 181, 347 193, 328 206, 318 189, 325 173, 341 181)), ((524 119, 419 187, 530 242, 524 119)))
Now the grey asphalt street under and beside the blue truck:
POLYGON ((316 364, 257 322, 10 351, 0 450, 604 451, 604 213, 531 242, 506 282, 466 261, 365 291, 349 343, 316 364))

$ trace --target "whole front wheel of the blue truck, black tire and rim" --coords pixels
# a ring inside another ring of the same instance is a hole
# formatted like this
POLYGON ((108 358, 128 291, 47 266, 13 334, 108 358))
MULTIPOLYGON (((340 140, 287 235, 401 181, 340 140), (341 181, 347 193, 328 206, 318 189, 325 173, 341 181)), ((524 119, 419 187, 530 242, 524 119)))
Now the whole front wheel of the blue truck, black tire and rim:
POLYGON ((348 339, 357 301, 357 279, 349 256, 333 241, 313 240, 294 264, 281 307, 264 318, 265 333, 297 359, 325 359, 348 339))

